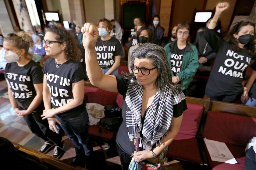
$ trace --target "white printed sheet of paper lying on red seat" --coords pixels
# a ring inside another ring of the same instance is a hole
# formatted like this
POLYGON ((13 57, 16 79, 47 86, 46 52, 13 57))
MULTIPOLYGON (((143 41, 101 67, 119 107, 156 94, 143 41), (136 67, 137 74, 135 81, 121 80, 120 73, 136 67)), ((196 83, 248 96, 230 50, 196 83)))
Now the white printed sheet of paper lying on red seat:
POLYGON ((204 143, 206 145, 206 148, 210 154, 212 161, 237 164, 236 159, 229 151, 229 148, 224 142, 213 141, 204 138, 204 143))

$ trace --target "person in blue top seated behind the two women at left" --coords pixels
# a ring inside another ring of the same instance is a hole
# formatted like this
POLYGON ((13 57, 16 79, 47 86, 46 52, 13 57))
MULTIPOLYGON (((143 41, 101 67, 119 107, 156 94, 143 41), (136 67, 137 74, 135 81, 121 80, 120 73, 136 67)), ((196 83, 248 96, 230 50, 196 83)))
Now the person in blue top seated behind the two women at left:
POLYGON ((39 61, 45 55, 45 51, 44 51, 44 47, 43 47, 43 43, 42 43, 43 39, 44 39, 43 34, 37 34, 37 37, 36 37, 37 42, 34 43, 34 47, 31 48, 31 53, 34 53, 34 61, 35 62, 39 61))

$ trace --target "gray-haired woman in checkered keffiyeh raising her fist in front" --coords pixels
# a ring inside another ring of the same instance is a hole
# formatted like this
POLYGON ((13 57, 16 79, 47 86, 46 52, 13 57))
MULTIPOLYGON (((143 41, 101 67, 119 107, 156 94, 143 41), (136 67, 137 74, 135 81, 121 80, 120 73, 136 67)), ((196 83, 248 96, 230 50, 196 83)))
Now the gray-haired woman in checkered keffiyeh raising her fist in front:
POLYGON ((133 73, 113 76, 102 74, 95 44, 98 29, 90 23, 82 27, 86 70, 90 82, 103 90, 123 95, 123 122, 116 136, 122 169, 147 159, 163 165, 167 146, 178 134, 187 109, 185 95, 172 83, 165 50, 143 43, 131 54, 133 73), (135 151, 134 141, 140 151, 135 151), (159 156, 162 155, 162 156, 159 156))

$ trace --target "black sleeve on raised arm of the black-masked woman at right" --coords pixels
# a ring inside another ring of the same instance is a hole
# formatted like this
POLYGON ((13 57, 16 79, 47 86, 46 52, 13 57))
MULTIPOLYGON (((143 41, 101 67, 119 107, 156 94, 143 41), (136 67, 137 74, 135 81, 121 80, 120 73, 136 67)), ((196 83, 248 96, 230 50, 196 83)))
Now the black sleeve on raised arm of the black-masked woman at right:
POLYGON ((204 30, 204 38, 208 42, 208 44, 215 50, 216 53, 219 52, 219 48, 224 42, 222 38, 220 38, 217 34, 215 29, 208 29, 204 30))

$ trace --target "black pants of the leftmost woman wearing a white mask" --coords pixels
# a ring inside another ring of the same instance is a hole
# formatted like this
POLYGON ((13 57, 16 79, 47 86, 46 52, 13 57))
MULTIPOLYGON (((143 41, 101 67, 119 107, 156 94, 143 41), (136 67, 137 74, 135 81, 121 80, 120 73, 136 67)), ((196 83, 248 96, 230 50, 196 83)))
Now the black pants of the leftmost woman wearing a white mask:
POLYGON ((42 120, 43 110, 39 110, 35 113, 28 114, 23 117, 27 122, 28 127, 39 138, 44 139, 45 141, 52 141, 57 146, 62 146, 62 136, 60 134, 56 134, 52 130, 49 129, 49 124, 47 119, 42 120))

